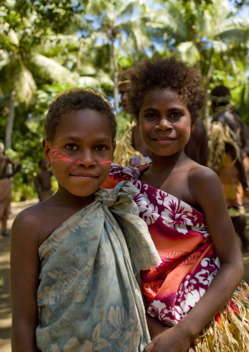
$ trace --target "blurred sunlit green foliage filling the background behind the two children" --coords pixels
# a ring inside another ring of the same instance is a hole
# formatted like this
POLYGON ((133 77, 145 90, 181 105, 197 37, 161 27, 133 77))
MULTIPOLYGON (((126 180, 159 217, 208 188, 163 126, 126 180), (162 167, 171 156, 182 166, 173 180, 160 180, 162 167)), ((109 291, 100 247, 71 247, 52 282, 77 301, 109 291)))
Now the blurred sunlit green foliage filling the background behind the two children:
MULTIPOLYGON (((14 90, 13 144, 7 152, 22 164, 14 176, 14 200, 37 197, 43 124, 55 95, 71 86, 91 86, 113 102, 118 63, 126 69, 145 56, 176 53, 196 63, 204 76, 212 70, 210 88, 228 86, 249 124, 249 21, 235 12, 227 10, 225 0, 3 0, 0 141, 14 90)), ((130 117, 121 110, 117 120, 119 139, 130 117)), ((56 190, 54 179, 52 184, 56 190)))

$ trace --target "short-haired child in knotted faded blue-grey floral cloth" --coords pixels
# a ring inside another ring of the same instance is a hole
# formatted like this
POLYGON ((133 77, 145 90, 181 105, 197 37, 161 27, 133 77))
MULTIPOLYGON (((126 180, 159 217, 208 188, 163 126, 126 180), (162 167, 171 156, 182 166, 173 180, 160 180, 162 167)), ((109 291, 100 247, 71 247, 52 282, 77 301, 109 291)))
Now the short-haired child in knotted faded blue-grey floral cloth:
POLYGON ((12 352, 137 352, 150 341, 134 275, 161 260, 127 197, 135 187, 100 188, 116 126, 91 89, 50 105, 43 150, 59 189, 12 227, 12 352))

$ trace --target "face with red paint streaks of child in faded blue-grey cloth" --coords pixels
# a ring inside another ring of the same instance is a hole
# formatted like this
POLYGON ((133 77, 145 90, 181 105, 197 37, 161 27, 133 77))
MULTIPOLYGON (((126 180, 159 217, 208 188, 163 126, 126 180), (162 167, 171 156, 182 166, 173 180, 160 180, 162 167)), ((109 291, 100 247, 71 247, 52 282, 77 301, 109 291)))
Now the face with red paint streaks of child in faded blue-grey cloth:
POLYGON ((71 111, 54 140, 44 139, 43 149, 59 187, 86 197, 108 177, 115 143, 106 118, 96 110, 84 109, 71 111))

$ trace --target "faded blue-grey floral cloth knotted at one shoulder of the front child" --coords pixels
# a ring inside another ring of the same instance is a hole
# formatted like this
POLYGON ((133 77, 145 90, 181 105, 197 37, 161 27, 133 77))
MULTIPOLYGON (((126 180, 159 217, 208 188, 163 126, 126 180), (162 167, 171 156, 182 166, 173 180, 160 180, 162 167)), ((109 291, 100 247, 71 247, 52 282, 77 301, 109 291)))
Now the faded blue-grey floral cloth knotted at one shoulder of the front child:
POLYGON ((136 192, 129 182, 101 189, 39 247, 40 351, 138 352, 149 343, 135 275, 161 260, 128 197, 136 192))

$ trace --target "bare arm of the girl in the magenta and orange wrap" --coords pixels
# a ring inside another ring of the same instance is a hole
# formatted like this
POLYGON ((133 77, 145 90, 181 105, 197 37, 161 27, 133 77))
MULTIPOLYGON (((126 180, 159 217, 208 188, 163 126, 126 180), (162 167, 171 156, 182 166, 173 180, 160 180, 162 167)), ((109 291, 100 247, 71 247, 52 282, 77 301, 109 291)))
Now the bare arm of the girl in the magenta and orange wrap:
POLYGON ((244 274, 242 253, 220 180, 209 169, 205 173, 203 168, 199 170, 200 173, 192 179, 190 189, 203 210, 221 268, 190 312, 176 326, 156 336, 145 352, 187 352, 191 341, 229 300, 244 274))

